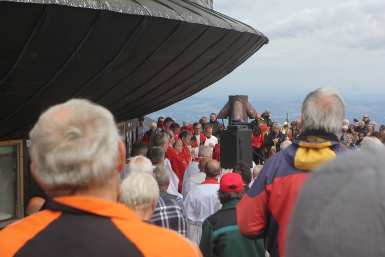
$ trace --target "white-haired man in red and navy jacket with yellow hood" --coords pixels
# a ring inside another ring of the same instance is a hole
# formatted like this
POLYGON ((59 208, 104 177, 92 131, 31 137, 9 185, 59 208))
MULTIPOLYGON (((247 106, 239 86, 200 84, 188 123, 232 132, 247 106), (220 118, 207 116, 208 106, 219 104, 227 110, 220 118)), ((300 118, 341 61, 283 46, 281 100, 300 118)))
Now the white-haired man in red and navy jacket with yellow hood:
POLYGON ((345 104, 338 91, 318 88, 301 108, 301 135, 269 158, 253 187, 237 205, 240 231, 247 237, 267 236, 271 256, 284 256, 286 230, 298 193, 314 169, 348 151, 339 144, 345 104))

